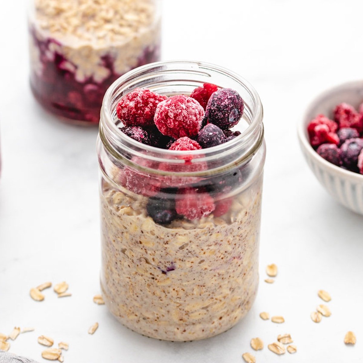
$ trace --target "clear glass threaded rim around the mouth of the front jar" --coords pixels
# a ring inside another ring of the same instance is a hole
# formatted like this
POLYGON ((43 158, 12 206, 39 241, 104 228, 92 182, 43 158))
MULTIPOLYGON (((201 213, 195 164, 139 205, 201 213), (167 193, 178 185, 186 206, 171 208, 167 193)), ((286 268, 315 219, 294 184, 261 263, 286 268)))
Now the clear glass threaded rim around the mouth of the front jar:
MULTIPOLYGON (((128 147, 131 150, 135 151, 136 156, 145 157, 145 152, 146 152, 154 155, 153 157, 152 156, 150 157, 150 159, 152 160, 159 162, 164 160, 167 162, 170 161, 170 159, 180 159, 180 156, 183 157, 184 155, 195 156, 198 161, 208 160, 223 152, 228 152, 231 150, 235 151, 236 148, 240 147, 241 144, 243 144, 244 142, 245 143, 248 141, 250 142, 253 135, 256 136, 256 134, 258 133, 257 138, 255 137, 256 140, 254 144, 248 150, 249 151, 248 155, 244 155, 243 159, 246 159, 251 155, 253 155, 254 152, 256 152, 256 150, 262 144, 263 134, 264 134, 262 118, 263 118, 263 108, 262 108, 261 99, 257 91, 248 81, 246 81, 243 77, 239 76, 237 73, 234 73, 227 68, 207 62, 189 61, 189 60, 161 61, 135 68, 125 73, 123 76, 119 77, 116 81, 114 81, 114 83, 112 83, 112 85, 107 89, 105 96, 103 98, 102 109, 101 109, 101 122, 99 124, 99 134, 101 136, 103 144, 105 144, 105 138, 106 138, 109 140, 109 143, 107 143, 109 144, 109 146, 114 146, 114 144, 118 145, 121 144, 123 147, 128 147), (176 68, 178 65, 179 68, 176 68), (115 92, 116 91, 120 92, 122 90, 127 89, 130 82, 136 81, 136 79, 138 78, 142 79, 146 77, 146 75, 150 74, 152 70, 154 70, 154 72, 157 71, 160 74, 162 74, 163 71, 164 72, 168 70, 170 71, 168 67, 175 67, 174 72, 180 70, 183 72, 191 72, 196 74, 198 73, 206 74, 208 73, 208 70, 212 70, 214 72, 220 73, 223 76, 232 78, 234 81, 240 83, 240 85, 243 86, 246 89, 246 91, 248 91, 250 97, 254 102, 254 113, 248 127, 246 127, 246 129, 242 131, 240 135, 236 136, 228 143, 200 150, 192 150, 192 151, 167 150, 142 144, 130 138, 124 132, 119 130, 118 125, 114 122, 114 119, 112 117, 114 110, 111 109, 113 102, 115 101, 113 98, 115 92), (143 152, 137 152, 136 150, 142 150, 143 152)), ((115 151, 114 147, 113 149, 115 151)), ((183 162, 183 159, 181 159, 180 162, 183 162)))

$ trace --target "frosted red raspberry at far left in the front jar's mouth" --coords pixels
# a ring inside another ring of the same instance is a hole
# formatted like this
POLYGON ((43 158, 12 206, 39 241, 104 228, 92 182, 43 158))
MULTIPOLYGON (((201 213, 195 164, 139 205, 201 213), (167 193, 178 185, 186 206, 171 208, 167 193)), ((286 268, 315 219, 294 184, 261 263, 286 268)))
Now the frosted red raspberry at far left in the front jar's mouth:
POLYGON ((126 126, 154 125, 156 106, 165 99, 166 96, 148 89, 136 88, 121 98, 116 109, 117 117, 126 126))

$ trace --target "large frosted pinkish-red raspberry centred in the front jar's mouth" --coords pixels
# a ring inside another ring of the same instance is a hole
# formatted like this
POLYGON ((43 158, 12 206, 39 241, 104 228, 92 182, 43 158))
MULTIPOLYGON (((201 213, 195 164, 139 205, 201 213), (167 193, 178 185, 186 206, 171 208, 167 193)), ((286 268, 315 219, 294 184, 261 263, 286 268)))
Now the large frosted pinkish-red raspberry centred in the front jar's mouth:
POLYGON ((179 139, 196 136, 204 117, 203 107, 194 98, 171 96, 159 103, 155 112, 155 125, 163 135, 179 139))

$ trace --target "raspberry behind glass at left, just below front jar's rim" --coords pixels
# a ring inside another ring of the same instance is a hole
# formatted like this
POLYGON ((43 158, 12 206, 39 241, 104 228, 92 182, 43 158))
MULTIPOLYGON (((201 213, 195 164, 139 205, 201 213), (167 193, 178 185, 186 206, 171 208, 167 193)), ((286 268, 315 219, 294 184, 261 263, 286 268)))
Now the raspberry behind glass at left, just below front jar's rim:
MULTIPOLYGON (((154 169, 156 164, 150 160, 145 160, 139 157, 131 159, 137 165, 154 169)), ((119 183, 131 192, 144 195, 147 197, 153 196, 160 191, 161 181, 148 174, 146 171, 141 171, 132 167, 125 167, 119 174, 119 183)))

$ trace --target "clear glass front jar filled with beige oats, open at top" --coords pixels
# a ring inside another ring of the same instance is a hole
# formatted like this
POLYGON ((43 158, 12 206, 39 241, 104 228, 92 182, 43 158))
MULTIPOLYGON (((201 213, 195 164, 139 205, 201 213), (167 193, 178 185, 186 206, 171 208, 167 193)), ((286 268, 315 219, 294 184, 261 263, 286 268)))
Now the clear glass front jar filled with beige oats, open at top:
POLYGON ((135 69, 106 92, 97 150, 101 287, 111 313, 138 333, 166 340, 203 339, 235 325, 258 287, 265 142, 253 87, 229 70, 200 62, 135 69), (119 130, 117 103, 135 88, 189 95, 204 82, 230 87, 245 101, 237 125, 242 133, 228 143, 171 151, 119 130), (185 198, 192 205, 210 203, 211 197, 214 211, 208 216, 188 220, 175 213, 185 198), (160 205, 167 224, 155 213, 160 205))

